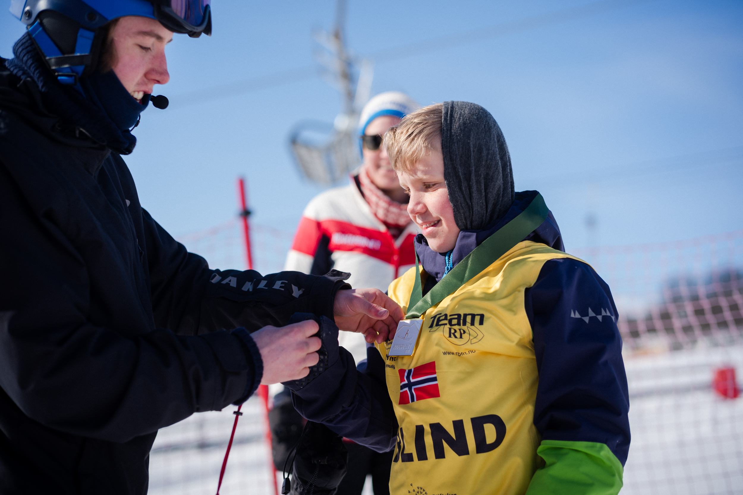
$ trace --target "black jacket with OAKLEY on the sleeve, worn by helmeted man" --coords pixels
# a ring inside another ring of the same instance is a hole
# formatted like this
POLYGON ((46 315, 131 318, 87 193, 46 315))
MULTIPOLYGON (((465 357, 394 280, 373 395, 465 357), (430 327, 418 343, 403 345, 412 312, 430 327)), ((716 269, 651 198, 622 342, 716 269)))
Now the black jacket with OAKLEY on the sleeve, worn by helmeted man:
POLYGON ((332 318, 343 275, 210 269, 121 157, 0 59, 0 493, 144 494, 158 428, 244 401, 245 332, 332 318))

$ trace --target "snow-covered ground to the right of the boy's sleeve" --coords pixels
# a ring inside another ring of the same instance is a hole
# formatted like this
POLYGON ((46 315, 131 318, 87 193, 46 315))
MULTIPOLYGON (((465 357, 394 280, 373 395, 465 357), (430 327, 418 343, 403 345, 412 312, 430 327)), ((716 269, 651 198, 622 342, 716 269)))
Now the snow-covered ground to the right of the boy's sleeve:
POLYGON ((743 396, 712 390, 714 370, 743 347, 626 358, 632 444, 622 494, 743 494, 743 396))

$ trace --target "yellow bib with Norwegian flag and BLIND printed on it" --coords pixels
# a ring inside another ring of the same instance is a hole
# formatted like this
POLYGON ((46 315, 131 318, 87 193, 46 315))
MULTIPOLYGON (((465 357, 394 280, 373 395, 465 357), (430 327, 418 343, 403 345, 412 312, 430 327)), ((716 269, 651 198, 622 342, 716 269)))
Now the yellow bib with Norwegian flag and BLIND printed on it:
MULTIPOLYGON (((573 257, 522 241, 426 309, 412 355, 377 344, 399 424, 392 495, 526 491, 541 439, 524 291, 554 258, 573 257)), ((406 312, 415 275, 410 269, 389 286, 406 312)))

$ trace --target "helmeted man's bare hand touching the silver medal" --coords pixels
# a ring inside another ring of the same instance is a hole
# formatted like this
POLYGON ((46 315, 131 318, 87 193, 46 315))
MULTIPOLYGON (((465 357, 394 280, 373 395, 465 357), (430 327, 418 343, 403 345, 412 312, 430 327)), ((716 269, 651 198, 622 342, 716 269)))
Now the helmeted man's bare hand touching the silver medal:
POLYGON ((363 333, 370 344, 395 337, 403 309, 379 289, 339 290, 333 304, 340 330, 363 333))

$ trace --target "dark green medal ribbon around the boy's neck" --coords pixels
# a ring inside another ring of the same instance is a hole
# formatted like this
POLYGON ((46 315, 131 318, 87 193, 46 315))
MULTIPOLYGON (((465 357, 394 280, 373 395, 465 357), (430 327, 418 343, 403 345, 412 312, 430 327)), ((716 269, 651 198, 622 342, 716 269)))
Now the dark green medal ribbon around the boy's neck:
POLYGON ((498 229, 496 233, 487 237, 473 252, 465 256, 464 260, 461 260, 444 278, 441 278, 441 281, 433 286, 425 297, 421 285, 421 269, 418 268, 418 255, 415 255, 415 283, 410 293, 405 319, 420 318, 429 307, 444 301, 444 298, 481 273, 542 225, 548 213, 549 210, 542 194, 536 194, 523 212, 498 229))

